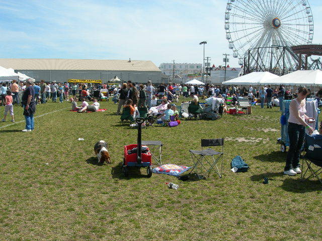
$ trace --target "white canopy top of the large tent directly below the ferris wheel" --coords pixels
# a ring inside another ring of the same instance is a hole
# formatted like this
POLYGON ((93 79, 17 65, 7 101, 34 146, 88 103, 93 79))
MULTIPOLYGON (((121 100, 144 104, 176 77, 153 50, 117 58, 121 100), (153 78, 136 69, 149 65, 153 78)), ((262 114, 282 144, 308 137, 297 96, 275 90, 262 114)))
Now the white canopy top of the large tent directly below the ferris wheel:
POLYGON ((260 83, 264 83, 266 81, 269 81, 271 79, 278 78, 278 75, 272 74, 270 72, 252 72, 246 75, 242 75, 240 77, 227 80, 222 82, 222 84, 227 84, 227 85, 258 85, 260 83))

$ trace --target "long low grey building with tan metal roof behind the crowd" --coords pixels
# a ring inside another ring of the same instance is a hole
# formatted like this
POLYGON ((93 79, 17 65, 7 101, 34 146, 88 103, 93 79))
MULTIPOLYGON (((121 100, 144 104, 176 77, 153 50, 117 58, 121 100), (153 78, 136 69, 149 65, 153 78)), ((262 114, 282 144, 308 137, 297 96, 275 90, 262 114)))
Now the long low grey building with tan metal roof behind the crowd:
POLYGON ((0 59, 0 66, 13 68, 36 81, 66 82, 93 79, 107 83, 114 76, 123 81, 161 82, 162 72, 152 61, 105 59, 0 59))

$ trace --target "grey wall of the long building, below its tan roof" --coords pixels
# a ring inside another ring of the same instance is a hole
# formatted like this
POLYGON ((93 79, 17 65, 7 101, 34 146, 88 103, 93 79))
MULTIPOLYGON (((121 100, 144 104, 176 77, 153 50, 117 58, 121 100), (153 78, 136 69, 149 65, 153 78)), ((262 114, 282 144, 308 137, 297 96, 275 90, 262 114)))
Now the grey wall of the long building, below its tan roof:
POLYGON ((161 72, 157 71, 98 71, 98 70, 15 70, 28 75, 31 78, 40 81, 66 82, 68 79, 102 79, 103 83, 111 80, 117 75, 123 81, 146 83, 151 80, 152 83, 161 82, 161 72))

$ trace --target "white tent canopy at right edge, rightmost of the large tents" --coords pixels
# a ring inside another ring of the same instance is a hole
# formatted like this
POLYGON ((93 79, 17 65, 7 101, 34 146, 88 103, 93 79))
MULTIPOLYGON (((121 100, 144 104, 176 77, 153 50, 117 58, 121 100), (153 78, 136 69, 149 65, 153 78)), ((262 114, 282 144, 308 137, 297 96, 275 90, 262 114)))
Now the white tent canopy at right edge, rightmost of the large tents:
POLYGON ((272 85, 322 85, 322 71, 321 70, 297 70, 292 73, 271 79, 265 84, 272 85))

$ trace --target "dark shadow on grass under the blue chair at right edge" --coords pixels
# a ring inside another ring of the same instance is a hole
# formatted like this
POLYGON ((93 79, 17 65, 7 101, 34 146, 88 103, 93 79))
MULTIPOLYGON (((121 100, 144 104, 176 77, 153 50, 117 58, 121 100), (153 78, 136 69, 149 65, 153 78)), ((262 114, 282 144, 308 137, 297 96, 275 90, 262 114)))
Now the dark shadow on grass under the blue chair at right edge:
POLYGON ((305 193, 322 191, 322 184, 318 180, 302 180, 294 177, 286 178, 281 185, 281 188, 288 192, 305 193))

